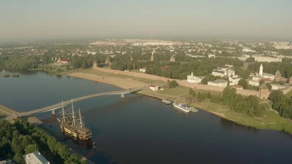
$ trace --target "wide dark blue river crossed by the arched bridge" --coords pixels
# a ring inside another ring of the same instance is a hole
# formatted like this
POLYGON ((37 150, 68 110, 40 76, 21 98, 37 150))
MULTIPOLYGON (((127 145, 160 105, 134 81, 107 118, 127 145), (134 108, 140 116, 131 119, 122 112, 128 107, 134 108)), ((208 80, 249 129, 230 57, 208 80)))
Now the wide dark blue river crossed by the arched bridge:
MULTIPOLYGON (((18 111, 121 90, 66 75, 17 73, 20 77, 0 77, 0 104, 18 111)), ((97 164, 292 164, 292 135, 244 127, 204 110, 184 114, 147 96, 125 96, 125 100, 106 95, 74 103, 96 143, 96 152, 78 151, 97 164)), ((44 122, 54 119, 50 112, 36 115, 44 122)))

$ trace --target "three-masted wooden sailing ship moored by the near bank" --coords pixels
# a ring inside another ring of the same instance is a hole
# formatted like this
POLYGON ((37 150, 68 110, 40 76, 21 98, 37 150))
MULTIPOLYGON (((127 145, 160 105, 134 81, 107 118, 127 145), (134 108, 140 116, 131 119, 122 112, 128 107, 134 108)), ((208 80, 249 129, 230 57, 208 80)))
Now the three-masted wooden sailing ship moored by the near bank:
POLYGON ((72 137, 76 141, 86 141, 91 138, 91 130, 85 127, 82 120, 80 109, 79 111, 74 110, 73 101, 72 107, 67 110, 64 109, 62 101, 62 110, 60 112, 60 118, 58 122, 60 124, 61 132, 65 133, 66 136, 72 137))

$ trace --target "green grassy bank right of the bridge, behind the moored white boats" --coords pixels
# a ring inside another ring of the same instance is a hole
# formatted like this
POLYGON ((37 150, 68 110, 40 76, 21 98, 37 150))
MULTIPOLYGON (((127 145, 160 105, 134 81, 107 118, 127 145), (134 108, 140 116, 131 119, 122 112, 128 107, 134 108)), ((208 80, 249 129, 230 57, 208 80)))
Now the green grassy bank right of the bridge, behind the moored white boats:
MULTIPOLYGON (((172 101, 189 104, 190 102, 184 100, 185 97, 191 97, 191 95, 188 94, 188 89, 189 88, 187 87, 179 86, 178 88, 169 90, 166 89, 164 91, 152 91, 147 89, 141 93, 151 97, 157 97, 161 99, 168 98, 172 101)), ((266 103, 262 103, 262 105, 265 108, 269 108, 269 105, 266 103)), ((204 99, 201 102, 190 103, 189 106, 209 111, 213 114, 244 126, 250 126, 258 129, 283 130, 292 134, 292 120, 280 117, 280 115, 275 111, 266 110, 264 117, 252 118, 247 114, 238 113, 233 109, 226 109, 225 105, 212 103, 209 99, 204 99)))

